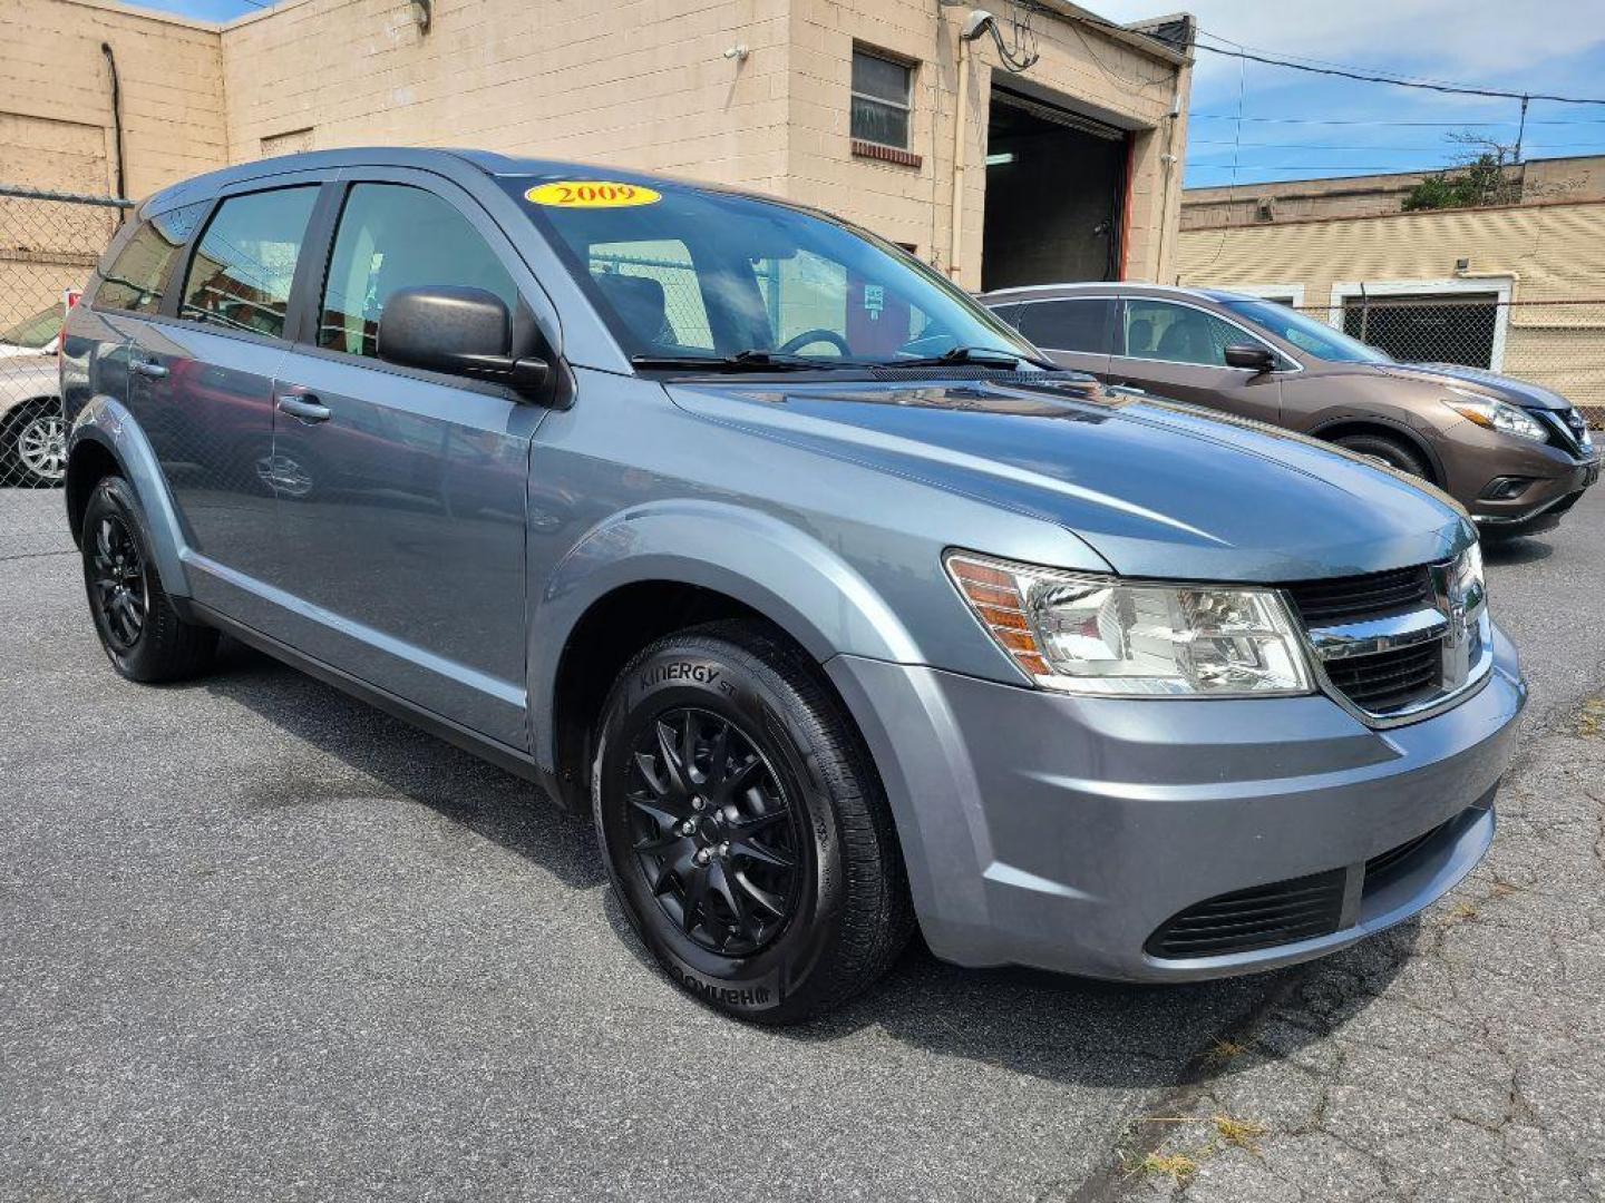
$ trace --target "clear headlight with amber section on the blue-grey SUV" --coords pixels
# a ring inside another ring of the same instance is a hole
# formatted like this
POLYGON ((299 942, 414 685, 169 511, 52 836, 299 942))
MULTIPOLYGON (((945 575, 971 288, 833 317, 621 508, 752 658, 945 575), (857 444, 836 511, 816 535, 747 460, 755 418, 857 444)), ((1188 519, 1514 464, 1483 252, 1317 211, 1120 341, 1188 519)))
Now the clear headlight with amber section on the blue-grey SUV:
POLYGON ((947 555, 998 646, 1048 690, 1128 698, 1310 693, 1302 640, 1270 589, 1128 584, 947 555))

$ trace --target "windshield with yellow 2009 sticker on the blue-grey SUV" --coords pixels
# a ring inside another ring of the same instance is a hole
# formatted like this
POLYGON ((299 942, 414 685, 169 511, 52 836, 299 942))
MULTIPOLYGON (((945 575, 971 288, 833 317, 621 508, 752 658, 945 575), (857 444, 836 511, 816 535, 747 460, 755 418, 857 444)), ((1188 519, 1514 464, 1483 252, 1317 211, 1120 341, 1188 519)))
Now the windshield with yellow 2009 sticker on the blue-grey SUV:
POLYGON ((636 359, 796 356, 820 367, 1034 356, 889 242, 782 204, 676 184, 509 180, 636 359))

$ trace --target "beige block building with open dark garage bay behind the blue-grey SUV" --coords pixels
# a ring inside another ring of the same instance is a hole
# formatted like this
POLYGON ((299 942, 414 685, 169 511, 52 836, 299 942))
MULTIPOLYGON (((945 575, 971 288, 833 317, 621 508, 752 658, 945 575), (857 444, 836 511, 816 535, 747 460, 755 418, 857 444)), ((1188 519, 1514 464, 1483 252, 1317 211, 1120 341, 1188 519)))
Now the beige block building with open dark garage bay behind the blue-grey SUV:
POLYGON ((1191 22, 1043 0, 1016 47, 993 0, 1038 55, 1011 72, 984 24, 961 37, 984 6, 284 0, 209 26, 5 0, 0 186, 122 172, 141 196, 308 148, 480 146, 820 205, 968 287, 1173 274, 1191 22))

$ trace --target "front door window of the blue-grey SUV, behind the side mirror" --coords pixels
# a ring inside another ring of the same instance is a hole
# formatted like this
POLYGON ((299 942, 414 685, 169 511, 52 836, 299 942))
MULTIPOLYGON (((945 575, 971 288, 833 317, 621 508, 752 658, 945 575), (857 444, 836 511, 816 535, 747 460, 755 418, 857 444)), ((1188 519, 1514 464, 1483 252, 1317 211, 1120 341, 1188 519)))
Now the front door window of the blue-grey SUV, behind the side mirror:
POLYGON ((377 356, 385 302, 396 289, 432 284, 485 289, 509 310, 518 305, 501 258, 449 202, 406 184, 355 184, 329 258, 318 345, 377 356))

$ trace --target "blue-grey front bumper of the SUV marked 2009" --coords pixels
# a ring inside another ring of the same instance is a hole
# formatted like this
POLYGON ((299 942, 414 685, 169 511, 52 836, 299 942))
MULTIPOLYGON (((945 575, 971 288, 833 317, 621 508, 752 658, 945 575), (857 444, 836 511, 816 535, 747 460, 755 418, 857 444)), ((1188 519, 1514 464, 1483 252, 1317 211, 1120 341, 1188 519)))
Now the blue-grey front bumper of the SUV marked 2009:
POLYGON ((1305 961, 1420 911, 1493 839, 1493 794, 1526 701, 1494 627, 1488 683, 1374 730, 1324 696, 1071 698, 937 669, 827 664, 886 784, 937 956, 1133 982, 1305 961), (1363 889, 1364 865, 1425 832, 1363 889), (1345 871, 1342 926, 1225 956, 1144 943, 1201 901, 1345 871))

